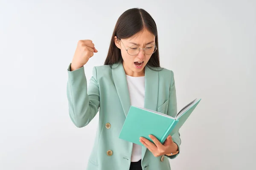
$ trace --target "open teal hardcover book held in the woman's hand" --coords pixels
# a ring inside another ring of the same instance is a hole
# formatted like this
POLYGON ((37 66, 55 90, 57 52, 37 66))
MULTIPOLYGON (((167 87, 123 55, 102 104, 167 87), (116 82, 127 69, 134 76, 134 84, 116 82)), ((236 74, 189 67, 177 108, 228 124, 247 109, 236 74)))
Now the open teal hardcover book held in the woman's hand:
POLYGON ((163 144, 169 135, 172 136, 178 132, 200 101, 201 99, 194 99, 184 106, 175 117, 157 111, 131 106, 119 134, 119 139, 143 146, 140 142, 140 137, 153 142, 148 137, 151 134, 163 144))

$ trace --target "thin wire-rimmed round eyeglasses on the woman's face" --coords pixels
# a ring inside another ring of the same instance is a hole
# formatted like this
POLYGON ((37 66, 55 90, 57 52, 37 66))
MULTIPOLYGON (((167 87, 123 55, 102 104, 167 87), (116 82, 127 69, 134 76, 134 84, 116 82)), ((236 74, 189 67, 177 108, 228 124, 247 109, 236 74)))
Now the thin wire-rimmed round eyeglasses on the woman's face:
MULTIPOLYGON (((120 41, 121 39, 118 38, 120 41)), ((122 42, 122 41, 121 41, 122 42)), ((122 42, 122 44, 124 45, 124 43, 122 42)), ((125 47, 125 45, 124 45, 125 47)), ((157 46, 154 45, 154 44, 149 44, 147 45, 145 48, 140 48, 139 46, 137 45, 131 45, 130 47, 128 47, 128 49, 125 48, 125 50, 127 51, 127 53, 131 56, 135 56, 137 54, 139 54, 140 52, 140 49, 143 49, 144 50, 144 53, 147 54, 147 55, 151 55, 153 54, 154 52, 157 51, 157 46)))

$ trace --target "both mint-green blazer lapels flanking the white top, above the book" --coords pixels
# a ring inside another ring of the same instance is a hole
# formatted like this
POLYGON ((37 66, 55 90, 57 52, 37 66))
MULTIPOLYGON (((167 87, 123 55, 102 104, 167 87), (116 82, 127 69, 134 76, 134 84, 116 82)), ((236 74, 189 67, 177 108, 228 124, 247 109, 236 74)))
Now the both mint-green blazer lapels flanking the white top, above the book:
MULTIPOLYGON (((122 63, 115 63, 112 66, 113 81, 116 91, 122 104, 125 117, 131 107, 127 79, 122 63)), ((158 71, 145 67, 145 99, 144 108, 156 111, 158 99, 158 71)))

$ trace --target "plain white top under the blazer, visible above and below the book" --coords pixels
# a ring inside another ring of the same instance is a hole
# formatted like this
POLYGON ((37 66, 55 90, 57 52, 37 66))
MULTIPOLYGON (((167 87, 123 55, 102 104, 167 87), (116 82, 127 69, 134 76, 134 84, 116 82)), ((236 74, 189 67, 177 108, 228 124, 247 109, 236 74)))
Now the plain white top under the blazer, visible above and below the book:
MULTIPOLYGON (((126 75, 131 105, 144 108, 145 97, 145 76, 131 77, 126 75)), ((139 144, 133 144, 131 161, 136 162, 141 159, 141 148, 139 144)))

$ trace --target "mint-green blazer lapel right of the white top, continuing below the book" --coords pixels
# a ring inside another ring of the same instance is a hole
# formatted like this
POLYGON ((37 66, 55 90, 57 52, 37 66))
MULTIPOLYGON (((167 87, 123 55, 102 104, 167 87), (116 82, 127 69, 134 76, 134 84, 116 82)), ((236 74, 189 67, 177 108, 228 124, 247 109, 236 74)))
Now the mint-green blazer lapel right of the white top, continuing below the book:
MULTIPOLYGON (((148 67, 145 67, 145 100, 144 108, 153 111, 157 110, 157 100, 158 100, 158 83, 159 76, 158 71, 153 71, 148 67)), ((147 148, 142 147, 142 161, 145 156, 147 148)))

